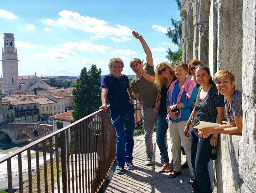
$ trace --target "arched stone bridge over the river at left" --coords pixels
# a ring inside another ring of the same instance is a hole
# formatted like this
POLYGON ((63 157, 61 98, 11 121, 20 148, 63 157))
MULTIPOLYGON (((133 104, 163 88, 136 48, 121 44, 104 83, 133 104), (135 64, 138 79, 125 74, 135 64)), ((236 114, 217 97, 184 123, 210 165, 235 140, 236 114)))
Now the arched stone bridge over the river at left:
POLYGON ((52 125, 38 123, 0 124, 0 140, 20 144, 52 133, 52 125))

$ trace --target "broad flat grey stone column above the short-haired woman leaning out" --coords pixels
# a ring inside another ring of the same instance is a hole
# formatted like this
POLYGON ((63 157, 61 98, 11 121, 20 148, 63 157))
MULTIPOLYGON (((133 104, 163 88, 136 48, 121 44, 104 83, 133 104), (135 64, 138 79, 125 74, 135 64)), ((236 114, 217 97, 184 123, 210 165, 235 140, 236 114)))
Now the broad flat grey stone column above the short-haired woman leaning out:
POLYGON ((217 4, 217 70, 231 71, 236 89, 242 90, 243 0, 217 0, 217 4))

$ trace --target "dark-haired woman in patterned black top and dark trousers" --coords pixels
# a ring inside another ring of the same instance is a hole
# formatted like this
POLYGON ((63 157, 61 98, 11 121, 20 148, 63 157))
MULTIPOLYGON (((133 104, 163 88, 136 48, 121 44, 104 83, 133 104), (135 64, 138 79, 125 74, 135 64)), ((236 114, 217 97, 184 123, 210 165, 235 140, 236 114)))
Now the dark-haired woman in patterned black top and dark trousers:
POLYGON ((185 136, 190 137, 191 162, 195 174, 194 180, 192 179, 190 183, 194 192, 212 192, 207 164, 211 159, 212 146, 217 145, 218 134, 199 138, 198 130, 193 127, 199 121, 221 123, 224 114, 224 98, 218 93, 206 65, 196 66, 196 80, 201 87, 198 89, 195 108, 184 129, 185 136))

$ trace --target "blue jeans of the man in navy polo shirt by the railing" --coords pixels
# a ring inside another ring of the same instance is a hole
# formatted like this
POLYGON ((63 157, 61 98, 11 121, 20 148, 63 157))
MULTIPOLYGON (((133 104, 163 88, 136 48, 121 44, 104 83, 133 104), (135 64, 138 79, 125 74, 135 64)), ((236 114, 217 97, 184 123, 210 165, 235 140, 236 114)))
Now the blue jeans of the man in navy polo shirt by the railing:
POLYGON ((134 111, 129 111, 118 117, 112 117, 116 130, 116 163, 123 167, 125 162, 132 161, 133 133, 134 133, 134 111))

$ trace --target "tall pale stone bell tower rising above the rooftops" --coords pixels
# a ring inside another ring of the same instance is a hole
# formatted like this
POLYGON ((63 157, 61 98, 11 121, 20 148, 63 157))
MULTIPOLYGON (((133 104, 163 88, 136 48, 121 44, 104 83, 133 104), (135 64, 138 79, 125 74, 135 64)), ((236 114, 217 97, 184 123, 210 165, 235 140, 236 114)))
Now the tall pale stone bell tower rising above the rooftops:
POLYGON ((18 54, 15 48, 13 33, 4 33, 2 48, 3 90, 19 90, 18 54))

